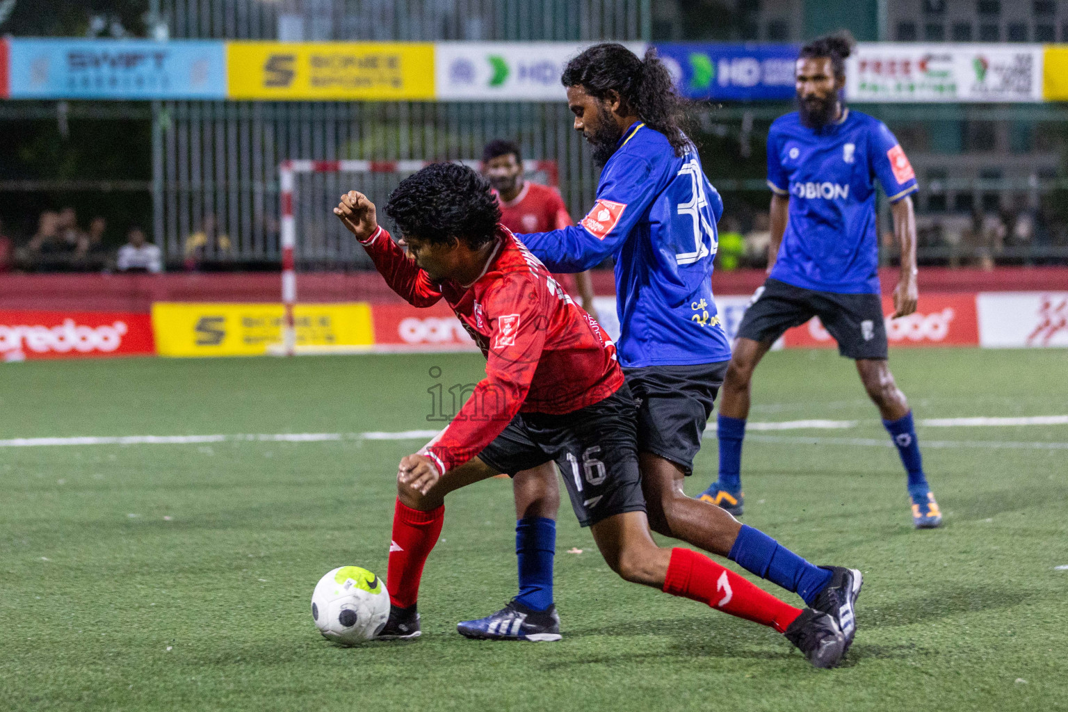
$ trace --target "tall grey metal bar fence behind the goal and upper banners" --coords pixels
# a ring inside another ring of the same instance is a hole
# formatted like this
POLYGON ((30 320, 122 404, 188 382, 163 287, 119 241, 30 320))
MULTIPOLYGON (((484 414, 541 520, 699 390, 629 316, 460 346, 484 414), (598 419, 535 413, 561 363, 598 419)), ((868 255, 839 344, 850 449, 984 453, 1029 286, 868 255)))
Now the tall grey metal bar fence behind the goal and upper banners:
MULTIPOLYGON (((649 26, 649 0, 171 0, 160 12, 172 37, 598 41, 641 39, 649 26)), ((286 159, 452 160, 509 138, 524 159, 556 161, 572 212, 592 204, 598 177, 563 102, 167 101, 153 116, 156 241, 170 262, 207 268, 278 263, 286 159)), ((302 178, 297 209, 321 207, 346 179, 302 178)), ((345 185, 379 197, 390 188, 345 185)), ((318 232, 332 231, 329 221, 297 218, 309 226, 297 236, 303 267, 368 264, 360 250, 324 247, 335 242, 318 232)))

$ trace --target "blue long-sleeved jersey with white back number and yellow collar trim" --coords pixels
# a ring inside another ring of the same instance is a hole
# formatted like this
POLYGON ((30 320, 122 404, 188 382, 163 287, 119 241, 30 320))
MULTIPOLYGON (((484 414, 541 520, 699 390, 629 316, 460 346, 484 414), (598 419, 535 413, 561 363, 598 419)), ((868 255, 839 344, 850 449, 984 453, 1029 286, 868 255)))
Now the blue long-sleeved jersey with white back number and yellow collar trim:
POLYGON ((731 358, 712 301, 716 223, 723 201, 693 148, 635 124, 604 164, 597 202, 578 225, 520 235, 553 272, 615 257, 624 366, 689 365, 731 358))

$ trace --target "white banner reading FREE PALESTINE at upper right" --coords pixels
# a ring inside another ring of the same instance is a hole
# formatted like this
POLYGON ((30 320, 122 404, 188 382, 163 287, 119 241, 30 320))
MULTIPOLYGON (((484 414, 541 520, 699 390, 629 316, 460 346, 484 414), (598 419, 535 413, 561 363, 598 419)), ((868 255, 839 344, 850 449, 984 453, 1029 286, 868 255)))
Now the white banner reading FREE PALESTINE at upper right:
POLYGON ((1041 101, 1041 45, 860 43, 850 101, 1041 101))

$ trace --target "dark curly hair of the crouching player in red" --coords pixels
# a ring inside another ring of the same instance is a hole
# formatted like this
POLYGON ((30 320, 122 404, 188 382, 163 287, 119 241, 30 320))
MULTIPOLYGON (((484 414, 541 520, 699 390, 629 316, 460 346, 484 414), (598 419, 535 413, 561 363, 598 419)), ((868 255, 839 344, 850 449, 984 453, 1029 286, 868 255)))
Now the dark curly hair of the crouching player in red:
POLYGON ((489 181, 460 163, 433 163, 402 180, 386 215, 402 235, 438 244, 456 238, 472 250, 492 240, 501 221, 489 181))

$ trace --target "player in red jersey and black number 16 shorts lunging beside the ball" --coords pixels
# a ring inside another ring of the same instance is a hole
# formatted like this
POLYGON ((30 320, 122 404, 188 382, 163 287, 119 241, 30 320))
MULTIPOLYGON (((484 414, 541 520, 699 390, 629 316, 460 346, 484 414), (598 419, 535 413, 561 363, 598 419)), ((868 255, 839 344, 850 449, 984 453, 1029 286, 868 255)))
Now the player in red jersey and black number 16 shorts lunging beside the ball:
MULTIPOLYGON (((400 228, 399 243, 356 191, 342 196, 334 213, 397 294, 415 306, 444 299, 487 359, 486 378, 453 422, 400 460, 387 575, 392 606, 379 637, 420 634, 419 583, 441 533, 445 495, 555 460, 567 473, 580 523, 621 576, 773 627, 818 667, 842 659, 845 637, 831 616, 788 605, 694 551, 653 541, 637 412, 615 347, 499 224, 485 178, 456 163, 405 178, 386 207, 400 228)), ((559 621, 553 608, 516 613, 509 624, 517 630, 530 616, 559 621)), ((560 639, 559 626, 541 635, 529 639, 560 639)))

